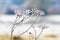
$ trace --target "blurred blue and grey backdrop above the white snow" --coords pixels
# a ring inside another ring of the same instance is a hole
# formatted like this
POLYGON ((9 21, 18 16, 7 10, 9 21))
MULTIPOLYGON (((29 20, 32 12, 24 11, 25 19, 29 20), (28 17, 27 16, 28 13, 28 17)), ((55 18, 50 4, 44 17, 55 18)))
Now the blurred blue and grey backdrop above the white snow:
POLYGON ((0 0, 0 14, 14 14, 14 9, 21 7, 38 7, 46 14, 60 14, 60 0, 0 0))

